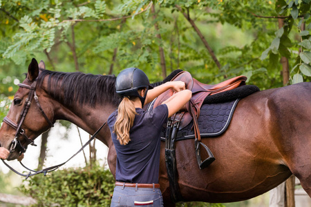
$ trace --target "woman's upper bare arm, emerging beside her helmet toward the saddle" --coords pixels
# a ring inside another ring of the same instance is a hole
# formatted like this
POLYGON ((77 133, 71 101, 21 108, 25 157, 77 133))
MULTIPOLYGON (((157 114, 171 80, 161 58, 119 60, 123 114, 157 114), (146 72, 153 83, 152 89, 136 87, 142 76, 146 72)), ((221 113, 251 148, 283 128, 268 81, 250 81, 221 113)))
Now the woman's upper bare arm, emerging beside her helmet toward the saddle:
POLYGON ((185 82, 169 81, 151 90, 148 90, 146 101, 144 101, 144 104, 150 103, 151 101, 153 101, 153 99, 156 99, 156 97, 162 94, 162 92, 165 92, 170 88, 176 92, 179 92, 180 90, 185 90, 185 82))

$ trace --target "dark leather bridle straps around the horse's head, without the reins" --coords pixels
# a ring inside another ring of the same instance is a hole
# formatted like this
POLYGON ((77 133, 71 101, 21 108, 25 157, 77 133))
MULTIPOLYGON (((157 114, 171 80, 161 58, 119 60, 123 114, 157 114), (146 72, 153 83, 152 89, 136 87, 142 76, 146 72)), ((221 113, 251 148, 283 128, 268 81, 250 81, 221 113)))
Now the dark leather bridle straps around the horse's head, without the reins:
POLYGON ((30 108, 30 103, 32 101, 32 98, 35 99, 35 102, 37 103, 37 106, 38 106, 41 114, 44 116, 44 118, 46 119, 46 121, 48 122, 50 127, 53 127, 54 124, 48 119, 48 117, 46 116, 46 113, 41 108, 41 105, 39 103, 39 99, 38 99, 37 93, 36 93, 37 79, 35 79, 35 81, 33 81, 31 86, 23 84, 23 83, 19 83, 17 86, 22 87, 22 88, 27 88, 30 90, 28 97, 25 101, 25 104, 23 106, 23 110, 21 110, 21 114, 19 115, 19 121, 17 121, 18 124, 16 124, 14 121, 12 121, 8 117, 4 117, 3 121, 6 124, 8 124, 9 126, 11 126, 12 128, 15 128, 15 130, 16 130, 15 138, 12 140, 12 142, 10 144, 10 153, 14 152, 15 149, 18 149, 19 153, 21 154, 23 152, 26 152, 28 144, 31 144, 32 146, 36 146, 34 141, 32 139, 30 139, 29 137, 27 137, 27 135, 25 134, 25 130, 23 130, 23 128, 21 128, 21 125, 23 124, 23 121, 25 120, 27 112, 30 108), (27 141, 25 147, 21 144, 21 140, 18 139, 19 135, 23 136, 25 138, 25 140, 27 141))

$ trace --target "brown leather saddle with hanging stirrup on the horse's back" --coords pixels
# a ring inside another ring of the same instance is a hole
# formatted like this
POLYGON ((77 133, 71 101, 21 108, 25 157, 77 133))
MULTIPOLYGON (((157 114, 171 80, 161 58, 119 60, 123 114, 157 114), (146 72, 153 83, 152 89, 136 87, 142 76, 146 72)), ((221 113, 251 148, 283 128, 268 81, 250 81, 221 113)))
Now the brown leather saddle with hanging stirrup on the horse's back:
MULTIPOLYGON (((217 83, 215 85, 208 85, 194 79, 187 71, 179 72, 175 77, 173 77, 173 79, 171 79, 171 81, 184 81, 186 88, 192 91, 192 97, 190 101, 186 103, 185 108, 182 108, 182 110, 177 112, 169 119, 167 131, 168 128, 170 128, 170 131, 167 134, 170 134, 170 136, 173 137, 176 134, 176 130, 181 130, 182 128, 185 128, 193 120, 194 125, 192 126, 192 129, 194 129, 195 135, 194 144, 196 149, 196 157, 200 169, 206 168, 207 166, 209 166, 209 164, 211 164, 211 162, 215 160, 214 155, 211 153, 211 150, 209 150, 209 148, 205 144, 202 144, 200 130, 198 128, 198 117, 200 116, 200 108, 204 99, 209 95, 215 95, 218 92, 224 92, 226 90, 232 90, 234 88, 237 88, 238 86, 243 86, 245 85, 246 79, 247 77, 245 76, 238 76, 223 81, 221 83, 217 83), (174 128, 176 129, 174 130, 174 128), (203 146, 205 150, 207 150, 207 154, 209 155, 209 157, 204 161, 202 161, 200 157, 200 145, 203 146)), ((153 108, 159 106, 163 101, 169 99, 169 97, 171 97, 173 94, 174 91, 171 89, 162 93, 162 95, 160 95, 156 99, 153 108)), ((169 140, 170 141, 166 141, 168 142, 166 144, 166 148, 173 149, 175 137, 170 137, 169 140)))

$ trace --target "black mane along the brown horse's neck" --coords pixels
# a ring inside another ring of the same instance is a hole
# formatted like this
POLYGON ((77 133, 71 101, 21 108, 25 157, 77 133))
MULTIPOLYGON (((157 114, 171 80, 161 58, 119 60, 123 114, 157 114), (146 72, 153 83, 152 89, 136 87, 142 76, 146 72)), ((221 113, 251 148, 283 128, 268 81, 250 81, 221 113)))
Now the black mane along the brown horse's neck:
MULTIPOLYGON (((121 101, 115 92, 116 77, 114 75, 40 70, 38 86, 40 87, 44 81, 44 77, 48 76, 49 95, 66 106, 72 106, 75 102, 81 106, 84 104, 95 106, 97 103, 102 104, 105 102, 118 105, 121 101)), ((151 86, 156 87, 170 81, 180 71, 182 70, 174 70, 163 81, 151 83, 151 86)))

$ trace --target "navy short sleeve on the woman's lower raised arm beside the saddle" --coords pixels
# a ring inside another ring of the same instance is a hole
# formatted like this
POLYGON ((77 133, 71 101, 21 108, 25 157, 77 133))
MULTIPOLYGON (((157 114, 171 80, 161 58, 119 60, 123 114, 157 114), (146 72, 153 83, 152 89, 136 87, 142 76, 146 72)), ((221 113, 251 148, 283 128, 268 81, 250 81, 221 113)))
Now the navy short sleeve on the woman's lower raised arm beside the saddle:
POLYGON ((169 109, 167 108, 167 104, 161 104, 149 112, 149 120, 151 121, 151 124, 158 129, 160 129, 167 121, 168 116, 169 109))

